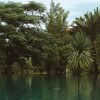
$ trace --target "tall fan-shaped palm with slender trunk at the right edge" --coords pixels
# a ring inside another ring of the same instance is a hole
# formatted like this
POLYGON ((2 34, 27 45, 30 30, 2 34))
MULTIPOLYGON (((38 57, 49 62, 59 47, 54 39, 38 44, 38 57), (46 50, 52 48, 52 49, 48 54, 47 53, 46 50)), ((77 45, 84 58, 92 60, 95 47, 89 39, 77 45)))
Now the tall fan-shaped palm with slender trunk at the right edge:
POLYGON ((98 7, 96 10, 94 10, 94 13, 88 12, 87 14, 84 14, 84 17, 76 18, 76 21, 74 21, 74 23, 77 25, 81 32, 88 34, 91 39, 91 42, 93 44, 92 50, 95 54, 93 67, 95 73, 98 73, 98 65, 96 60, 96 38, 98 37, 98 34, 100 32, 100 11, 98 10, 98 7))

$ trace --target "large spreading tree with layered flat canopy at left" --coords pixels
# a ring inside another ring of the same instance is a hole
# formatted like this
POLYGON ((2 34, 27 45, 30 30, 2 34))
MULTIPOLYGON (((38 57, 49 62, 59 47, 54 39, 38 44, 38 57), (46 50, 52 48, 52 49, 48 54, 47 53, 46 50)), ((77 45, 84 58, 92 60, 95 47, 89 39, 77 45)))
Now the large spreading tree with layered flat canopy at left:
POLYGON ((4 36, 3 41, 9 40, 4 45, 8 73, 19 57, 32 56, 35 48, 30 43, 32 40, 30 37, 41 32, 40 25, 44 22, 44 11, 45 6, 36 2, 0 3, 0 33, 4 36))

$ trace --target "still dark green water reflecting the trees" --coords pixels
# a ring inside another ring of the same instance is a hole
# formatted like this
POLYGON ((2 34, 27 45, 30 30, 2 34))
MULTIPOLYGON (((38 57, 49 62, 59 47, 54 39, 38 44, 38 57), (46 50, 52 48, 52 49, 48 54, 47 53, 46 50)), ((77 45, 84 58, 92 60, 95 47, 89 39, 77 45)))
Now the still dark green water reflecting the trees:
POLYGON ((100 77, 0 76, 0 100, 100 100, 100 77))

